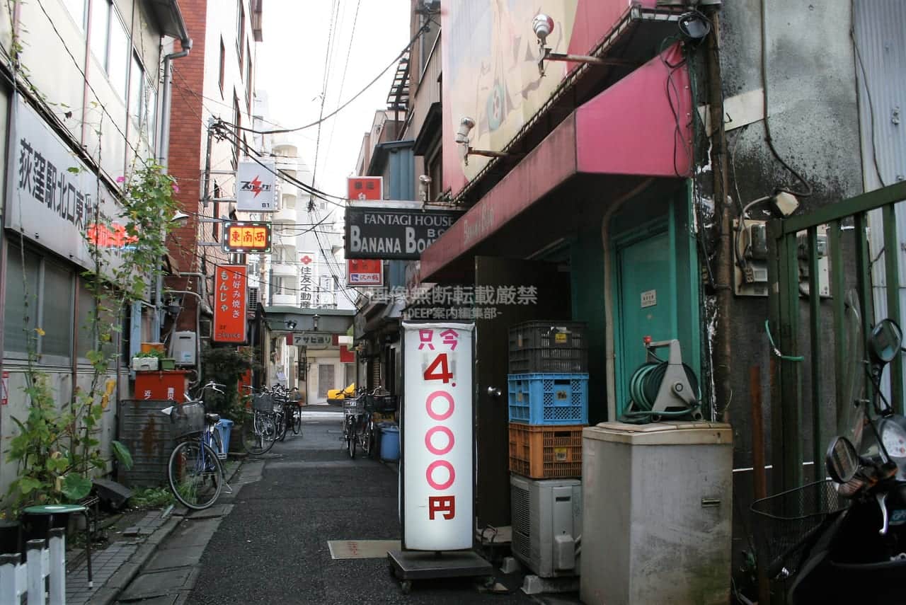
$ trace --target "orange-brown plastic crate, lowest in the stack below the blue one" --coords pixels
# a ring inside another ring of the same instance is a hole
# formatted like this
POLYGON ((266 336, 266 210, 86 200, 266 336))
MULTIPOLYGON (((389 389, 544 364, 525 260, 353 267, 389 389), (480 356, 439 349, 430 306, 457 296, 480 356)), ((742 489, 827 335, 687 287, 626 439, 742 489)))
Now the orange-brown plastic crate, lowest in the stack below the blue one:
POLYGON ((585 425, 509 425, 510 471, 530 479, 582 476, 582 429, 585 425))

